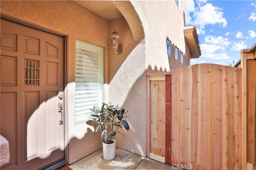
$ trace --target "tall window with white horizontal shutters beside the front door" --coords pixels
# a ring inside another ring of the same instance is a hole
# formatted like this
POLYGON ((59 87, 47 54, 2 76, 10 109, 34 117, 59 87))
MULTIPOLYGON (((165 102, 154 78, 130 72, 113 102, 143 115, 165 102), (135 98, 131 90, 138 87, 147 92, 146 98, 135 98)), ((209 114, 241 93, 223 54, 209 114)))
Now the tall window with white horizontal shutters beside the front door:
POLYGON ((104 99, 104 49, 76 40, 76 115, 75 122, 84 122, 94 104, 104 99))

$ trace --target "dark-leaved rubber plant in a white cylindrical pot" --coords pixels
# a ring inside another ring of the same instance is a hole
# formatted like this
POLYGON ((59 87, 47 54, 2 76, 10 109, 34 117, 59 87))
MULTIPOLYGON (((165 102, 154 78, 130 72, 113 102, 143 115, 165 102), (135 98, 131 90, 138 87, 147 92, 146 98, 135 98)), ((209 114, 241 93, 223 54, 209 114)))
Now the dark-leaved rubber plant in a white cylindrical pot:
POLYGON ((116 140, 114 140, 114 136, 116 133, 120 133, 124 136, 122 132, 117 131, 118 128, 124 127, 126 130, 129 130, 128 123, 123 120, 123 118, 126 117, 124 115, 128 111, 125 111, 124 109, 121 110, 118 105, 114 106, 111 102, 102 104, 100 109, 97 104, 93 106, 93 109, 90 109, 93 112, 91 116, 96 119, 89 120, 86 123, 91 125, 92 121, 94 123, 96 122, 97 127, 94 130, 94 134, 102 129, 103 158, 112 160, 116 155, 116 140))

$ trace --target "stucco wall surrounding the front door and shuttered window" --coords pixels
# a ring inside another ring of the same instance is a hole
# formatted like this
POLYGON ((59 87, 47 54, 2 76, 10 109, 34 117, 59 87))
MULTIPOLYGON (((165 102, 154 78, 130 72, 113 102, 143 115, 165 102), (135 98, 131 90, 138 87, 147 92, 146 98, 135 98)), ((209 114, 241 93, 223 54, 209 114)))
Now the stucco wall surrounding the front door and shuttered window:
MULTIPOLYGON (((70 142, 68 160, 75 162, 101 148, 100 134, 94 135, 85 123, 74 124, 74 47, 76 38, 106 47, 105 60, 108 61, 108 21, 72 1, 1 1, 1 13, 68 35, 68 85, 65 89, 70 142)), ((108 75, 108 70, 105 73, 108 75)))

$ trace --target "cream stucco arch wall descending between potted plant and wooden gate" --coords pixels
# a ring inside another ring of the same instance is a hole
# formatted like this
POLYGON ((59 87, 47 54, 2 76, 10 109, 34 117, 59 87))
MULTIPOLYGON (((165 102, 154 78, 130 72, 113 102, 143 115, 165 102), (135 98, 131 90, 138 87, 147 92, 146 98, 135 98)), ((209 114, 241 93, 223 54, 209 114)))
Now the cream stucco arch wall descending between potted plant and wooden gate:
MULTIPOLYGON (((117 146, 136 154, 147 154, 146 73, 174 71, 189 65, 185 49, 183 15, 174 1, 131 1, 144 29, 142 40, 128 54, 109 84, 110 101, 128 109, 130 130, 117 136, 117 146), (184 64, 168 57, 166 38, 186 53, 184 64)), ((184 8, 183 8, 184 9, 184 8)), ((111 58, 111 56, 110 56, 111 58)), ((118 57, 117 57, 118 58, 118 57)), ((112 72, 112 71, 110 71, 112 72)))

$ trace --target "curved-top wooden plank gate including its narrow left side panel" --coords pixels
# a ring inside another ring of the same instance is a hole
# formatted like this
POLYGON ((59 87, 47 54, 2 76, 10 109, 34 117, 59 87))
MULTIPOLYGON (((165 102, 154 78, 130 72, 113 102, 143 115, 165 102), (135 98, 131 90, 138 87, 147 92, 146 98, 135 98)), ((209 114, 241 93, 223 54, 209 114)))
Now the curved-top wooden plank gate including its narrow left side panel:
POLYGON ((186 169, 242 169, 242 69, 191 65, 148 75, 148 88, 150 158, 186 169))

